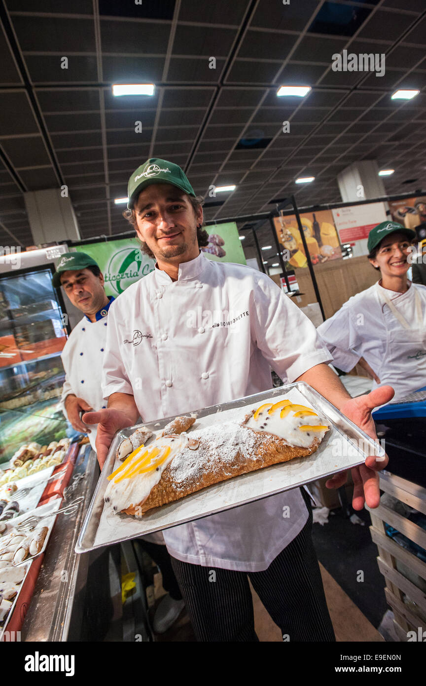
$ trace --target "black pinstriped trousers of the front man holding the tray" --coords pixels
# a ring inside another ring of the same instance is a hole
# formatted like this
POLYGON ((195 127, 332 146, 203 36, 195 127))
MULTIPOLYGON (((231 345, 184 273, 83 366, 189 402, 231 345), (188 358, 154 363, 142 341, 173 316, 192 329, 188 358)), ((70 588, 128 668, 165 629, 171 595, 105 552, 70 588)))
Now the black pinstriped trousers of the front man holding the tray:
POLYGON ((264 571, 201 567, 171 557, 198 641, 258 641, 249 579, 286 641, 335 641, 312 544, 312 507, 301 532, 264 571), (211 571, 216 581, 209 581, 211 571))

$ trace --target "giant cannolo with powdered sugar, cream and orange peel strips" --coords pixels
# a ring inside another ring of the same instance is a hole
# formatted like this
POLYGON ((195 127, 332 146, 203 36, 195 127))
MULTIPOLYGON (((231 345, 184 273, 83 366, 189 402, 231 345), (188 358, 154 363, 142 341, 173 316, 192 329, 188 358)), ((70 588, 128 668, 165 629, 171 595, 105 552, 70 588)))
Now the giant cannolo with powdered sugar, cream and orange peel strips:
POLYGON ((310 407, 284 400, 260 405, 240 424, 216 424, 189 435, 163 431, 108 477, 105 503, 115 513, 140 516, 234 476, 311 455, 328 430, 310 407))

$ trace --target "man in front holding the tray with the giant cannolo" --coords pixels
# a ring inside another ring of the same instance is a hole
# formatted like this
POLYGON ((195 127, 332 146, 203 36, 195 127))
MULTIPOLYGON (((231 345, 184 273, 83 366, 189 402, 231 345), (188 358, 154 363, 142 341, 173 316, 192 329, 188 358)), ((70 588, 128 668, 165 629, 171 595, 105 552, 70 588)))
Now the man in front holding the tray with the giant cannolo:
MULTIPOLYGON (((99 423, 101 466, 114 432, 134 424, 225 403, 284 383, 306 381, 375 436, 371 410, 390 387, 351 399, 327 365, 313 324, 265 274, 210 261, 200 246, 202 199, 177 165, 149 159, 129 180, 130 220, 155 270, 131 285, 109 315, 99 423), (193 314, 201 307, 202 320, 193 314)), ((353 470, 353 506, 377 507, 377 470, 353 470)), ((346 481, 335 475, 330 487, 346 481)), ((299 488, 164 530, 173 568, 200 641, 256 641, 250 578, 290 641, 333 641, 312 545, 312 513, 299 488), (290 517, 284 517, 289 508, 290 517), (211 571, 216 582, 211 582, 211 571)))

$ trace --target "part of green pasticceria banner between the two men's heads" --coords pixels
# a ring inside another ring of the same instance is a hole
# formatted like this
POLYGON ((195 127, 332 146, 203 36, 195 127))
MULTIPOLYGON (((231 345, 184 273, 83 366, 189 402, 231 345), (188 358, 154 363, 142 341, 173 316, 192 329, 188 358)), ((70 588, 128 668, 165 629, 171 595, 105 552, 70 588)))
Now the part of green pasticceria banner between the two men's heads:
POLYGON ((97 261, 105 279, 105 293, 114 298, 152 272, 155 265, 155 260, 140 251, 136 238, 90 243, 75 246, 75 250, 86 252, 97 261))

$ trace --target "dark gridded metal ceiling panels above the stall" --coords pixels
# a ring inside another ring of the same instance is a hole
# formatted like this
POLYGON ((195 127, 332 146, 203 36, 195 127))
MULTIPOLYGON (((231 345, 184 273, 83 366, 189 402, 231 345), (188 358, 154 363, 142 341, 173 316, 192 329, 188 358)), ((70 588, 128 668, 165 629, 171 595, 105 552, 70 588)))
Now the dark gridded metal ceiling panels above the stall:
POLYGON ((366 158, 396 170, 384 179, 388 193, 423 185, 423 0, 32 0, 30 8, 0 0, 0 243, 32 243, 23 192, 63 183, 82 237, 121 233, 128 225, 113 200, 148 156, 185 168, 209 220, 266 211, 288 194, 301 206, 339 202, 336 175, 366 158), (386 74, 332 71, 342 49, 386 54, 386 74), (131 80, 155 82, 155 96, 142 106, 112 96, 112 82, 131 80), (281 83, 312 91, 278 99, 281 83), (397 86, 421 94, 401 104, 390 99, 397 86), (315 181, 295 185, 301 174, 315 181), (210 185, 231 183, 234 193, 208 196, 210 185))

